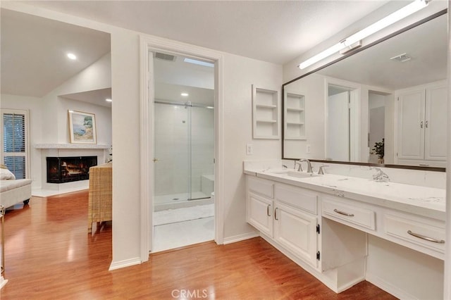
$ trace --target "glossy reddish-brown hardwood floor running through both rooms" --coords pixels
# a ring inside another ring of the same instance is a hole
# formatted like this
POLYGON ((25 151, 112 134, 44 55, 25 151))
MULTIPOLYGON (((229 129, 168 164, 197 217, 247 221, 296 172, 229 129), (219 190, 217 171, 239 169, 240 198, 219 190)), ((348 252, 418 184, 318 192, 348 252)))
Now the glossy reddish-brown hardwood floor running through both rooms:
POLYGON ((335 294, 260 238, 166 251, 110 272, 111 224, 87 234, 87 192, 8 211, 5 238, 2 300, 394 299, 369 282, 335 294))

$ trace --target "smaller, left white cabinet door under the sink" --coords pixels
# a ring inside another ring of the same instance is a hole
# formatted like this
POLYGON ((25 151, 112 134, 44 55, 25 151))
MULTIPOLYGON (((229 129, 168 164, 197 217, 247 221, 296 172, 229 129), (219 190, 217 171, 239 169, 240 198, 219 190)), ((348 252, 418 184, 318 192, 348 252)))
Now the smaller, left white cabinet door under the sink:
POLYGON ((273 201, 247 193, 247 223, 268 237, 273 237, 273 201))

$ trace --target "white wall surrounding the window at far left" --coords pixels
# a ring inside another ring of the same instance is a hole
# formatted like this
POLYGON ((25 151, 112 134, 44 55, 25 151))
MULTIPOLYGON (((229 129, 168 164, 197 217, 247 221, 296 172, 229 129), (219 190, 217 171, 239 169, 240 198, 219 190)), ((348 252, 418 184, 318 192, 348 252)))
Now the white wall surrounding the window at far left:
POLYGON ((41 186, 41 151, 33 144, 42 139, 42 102, 40 98, 1 94, 0 108, 23 109, 29 111, 28 137, 30 149, 30 178, 32 187, 41 186))

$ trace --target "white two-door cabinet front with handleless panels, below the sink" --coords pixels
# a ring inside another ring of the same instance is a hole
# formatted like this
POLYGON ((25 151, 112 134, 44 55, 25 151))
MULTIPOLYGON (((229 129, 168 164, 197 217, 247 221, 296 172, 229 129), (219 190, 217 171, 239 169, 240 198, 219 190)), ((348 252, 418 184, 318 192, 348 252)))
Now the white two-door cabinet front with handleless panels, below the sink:
POLYGON ((317 195, 247 176, 247 222, 314 268, 318 265, 317 195))

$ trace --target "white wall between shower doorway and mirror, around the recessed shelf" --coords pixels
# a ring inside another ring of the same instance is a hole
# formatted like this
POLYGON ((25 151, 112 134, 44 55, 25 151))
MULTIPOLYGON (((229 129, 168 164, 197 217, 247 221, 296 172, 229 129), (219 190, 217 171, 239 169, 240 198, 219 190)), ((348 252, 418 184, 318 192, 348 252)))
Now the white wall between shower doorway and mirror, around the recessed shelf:
MULTIPOLYGON (((224 54, 224 239, 249 232, 246 223, 245 159, 280 158, 280 140, 252 139, 252 85, 278 91, 282 86, 282 66, 251 58, 224 54), (252 144, 254 155, 246 155, 246 144, 252 144)), ((280 128, 279 128, 280 130, 280 128)))

